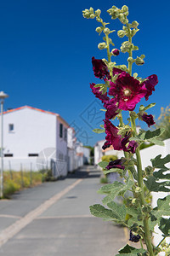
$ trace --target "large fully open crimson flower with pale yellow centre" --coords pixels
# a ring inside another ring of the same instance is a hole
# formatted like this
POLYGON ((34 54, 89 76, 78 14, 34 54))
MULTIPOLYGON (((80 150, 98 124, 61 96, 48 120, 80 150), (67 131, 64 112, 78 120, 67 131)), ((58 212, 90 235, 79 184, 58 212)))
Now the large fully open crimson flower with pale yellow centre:
POLYGON ((140 84, 139 80, 134 79, 126 72, 122 72, 118 76, 115 84, 113 82, 110 84, 109 95, 116 97, 118 108, 122 110, 133 111, 136 104, 146 94, 145 84, 140 84))

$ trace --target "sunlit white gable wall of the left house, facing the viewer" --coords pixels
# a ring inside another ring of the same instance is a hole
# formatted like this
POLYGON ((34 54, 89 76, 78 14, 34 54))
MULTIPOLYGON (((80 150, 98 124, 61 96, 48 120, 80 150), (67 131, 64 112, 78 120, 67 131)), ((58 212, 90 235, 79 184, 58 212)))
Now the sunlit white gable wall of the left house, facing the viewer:
POLYGON ((30 108, 22 108, 3 115, 4 154, 14 157, 28 157, 38 154, 43 148, 56 147, 56 116, 41 113, 30 108), (14 124, 14 131, 8 125, 14 124))

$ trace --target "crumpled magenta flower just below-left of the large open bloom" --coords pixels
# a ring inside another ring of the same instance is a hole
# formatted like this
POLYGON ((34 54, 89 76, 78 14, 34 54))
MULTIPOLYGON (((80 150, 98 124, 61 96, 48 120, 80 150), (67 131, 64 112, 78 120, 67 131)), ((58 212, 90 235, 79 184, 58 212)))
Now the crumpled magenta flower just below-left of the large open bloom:
POLYGON ((117 106, 116 106, 116 98, 109 100, 108 102, 104 103, 104 108, 106 108, 105 118, 106 119, 113 119, 118 114, 117 106))

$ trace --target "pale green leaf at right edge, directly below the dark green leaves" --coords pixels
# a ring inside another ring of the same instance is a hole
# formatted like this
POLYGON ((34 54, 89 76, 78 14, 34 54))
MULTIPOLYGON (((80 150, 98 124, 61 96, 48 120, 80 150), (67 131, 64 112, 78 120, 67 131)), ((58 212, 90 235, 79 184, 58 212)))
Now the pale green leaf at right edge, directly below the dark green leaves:
POLYGON ((161 218, 162 215, 168 216, 170 212, 170 195, 167 195, 163 199, 158 199, 157 207, 155 207, 151 214, 153 214, 156 218, 161 218))

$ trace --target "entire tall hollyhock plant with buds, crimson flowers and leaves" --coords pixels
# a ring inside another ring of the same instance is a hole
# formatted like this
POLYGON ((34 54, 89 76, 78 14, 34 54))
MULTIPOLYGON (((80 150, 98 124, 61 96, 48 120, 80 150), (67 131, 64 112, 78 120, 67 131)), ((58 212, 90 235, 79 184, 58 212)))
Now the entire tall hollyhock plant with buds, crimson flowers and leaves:
MULTIPOLYGON (((148 127, 155 124, 153 116, 148 114, 147 110, 154 107, 156 103, 150 103, 146 107, 140 105, 136 108, 136 106, 141 100, 148 101, 155 91, 158 79, 156 74, 149 76, 147 74, 146 79, 143 79, 138 73, 133 73, 133 64, 143 67, 145 56, 133 54, 139 50, 138 46, 133 44, 133 36, 139 32, 139 23, 136 20, 129 23, 127 6, 123 5, 121 9, 112 6, 107 12, 112 20, 118 19, 122 23, 122 29, 117 31, 117 36, 126 37, 126 39, 120 48, 113 44, 111 34, 115 30, 110 30, 108 27, 110 23, 104 22, 100 17, 99 9, 96 11, 93 8, 85 9, 82 15, 84 18, 96 19, 99 22, 96 32, 99 35, 104 34, 102 37, 104 42, 99 43, 98 48, 105 50, 107 54, 107 57, 102 60, 92 58, 94 76, 101 79, 102 84, 92 83, 90 87, 105 108, 101 109, 105 110, 104 125, 100 125, 102 129, 97 128, 94 131, 105 133, 105 143, 102 147, 104 150, 112 146, 118 154, 120 152, 123 154, 121 159, 110 162, 101 161, 99 166, 105 175, 118 172, 122 182, 115 181, 99 189, 99 193, 105 195, 103 204, 91 206, 90 211, 96 217, 122 224, 129 230, 129 240, 135 243, 140 242, 141 247, 125 245, 116 256, 121 254, 155 256, 162 252, 163 242, 170 236, 170 218, 162 217, 168 216, 170 212, 170 195, 167 195, 170 192, 170 175, 168 174, 170 168, 167 165, 170 162, 170 154, 164 158, 161 154, 155 158, 152 155, 150 166, 146 166, 146 160, 142 162, 141 146, 145 143, 163 146, 164 143, 160 137, 164 129, 159 127, 151 131, 143 129, 138 131, 136 119, 144 121, 148 127), (116 48, 111 49, 113 46, 116 48), (122 54, 127 54, 127 62, 117 65, 117 55, 120 61, 122 54), (139 109, 139 112, 135 112, 136 109, 139 109), (127 120, 122 115, 123 111, 128 113, 127 120), (115 124, 117 120, 118 125, 115 124), (155 194, 162 192, 166 195, 164 198, 159 198, 157 206, 153 207, 150 192, 155 194), (122 204, 115 201, 116 197, 122 198, 122 204), (153 239, 156 232, 161 232, 160 236, 162 236, 158 242, 153 239)), ((155 153, 154 148, 152 153, 155 153)), ((169 248, 167 246, 167 250, 170 251, 170 246, 169 248)), ((169 255, 168 251, 166 255, 169 255)))

